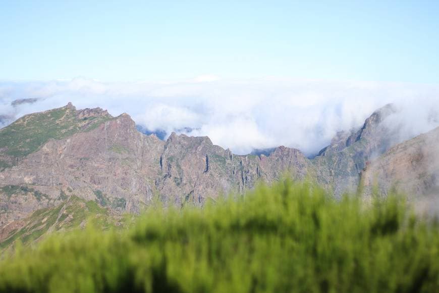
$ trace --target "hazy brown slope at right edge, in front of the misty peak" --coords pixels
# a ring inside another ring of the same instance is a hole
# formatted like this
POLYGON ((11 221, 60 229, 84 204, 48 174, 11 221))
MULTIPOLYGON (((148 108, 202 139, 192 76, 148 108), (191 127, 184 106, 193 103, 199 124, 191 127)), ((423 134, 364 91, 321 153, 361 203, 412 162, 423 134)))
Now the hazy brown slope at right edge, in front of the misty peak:
POLYGON ((423 211, 439 212, 439 128, 400 143, 362 172, 365 194, 392 188, 407 194, 423 211))

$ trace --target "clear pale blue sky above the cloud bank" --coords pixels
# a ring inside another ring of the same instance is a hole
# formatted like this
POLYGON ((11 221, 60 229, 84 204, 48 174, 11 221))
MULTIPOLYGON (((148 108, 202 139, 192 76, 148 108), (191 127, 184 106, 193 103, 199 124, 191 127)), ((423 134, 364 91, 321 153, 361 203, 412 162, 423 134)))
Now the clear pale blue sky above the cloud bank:
POLYGON ((439 83, 438 1, 2 1, 0 80, 439 83))

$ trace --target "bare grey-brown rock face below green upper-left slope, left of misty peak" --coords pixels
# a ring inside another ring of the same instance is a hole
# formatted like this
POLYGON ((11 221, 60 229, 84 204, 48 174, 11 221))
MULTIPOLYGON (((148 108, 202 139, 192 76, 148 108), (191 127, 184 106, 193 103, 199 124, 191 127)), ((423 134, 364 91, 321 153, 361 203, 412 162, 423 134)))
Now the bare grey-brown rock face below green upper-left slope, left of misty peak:
POLYGON ((0 197, 2 225, 59 205, 65 200, 61 194, 129 212, 138 212, 154 197, 165 205, 202 205, 218 192, 243 192, 258 179, 271 182, 286 170, 303 178, 310 166, 302 153, 284 146, 269 156, 236 156, 208 137, 173 133, 162 141, 144 135, 127 114, 113 118, 100 108, 76 111, 71 104, 62 109, 75 114, 77 130, 48 139, 0 172, 2 186, 28 186, 44 194, 38 200, 34 192, 0 197), (100 124, 90 124, 96 120, 100 124))

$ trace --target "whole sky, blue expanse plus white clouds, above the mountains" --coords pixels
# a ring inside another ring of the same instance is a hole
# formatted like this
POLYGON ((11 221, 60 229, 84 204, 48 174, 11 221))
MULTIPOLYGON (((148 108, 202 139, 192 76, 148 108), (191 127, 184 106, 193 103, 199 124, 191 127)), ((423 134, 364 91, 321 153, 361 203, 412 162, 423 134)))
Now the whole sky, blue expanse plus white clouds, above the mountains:
POLYGON ((439 126, 437 1, 0 4, 0 127, 72 102, 311 156, 387 103, 401 140, 439 126))

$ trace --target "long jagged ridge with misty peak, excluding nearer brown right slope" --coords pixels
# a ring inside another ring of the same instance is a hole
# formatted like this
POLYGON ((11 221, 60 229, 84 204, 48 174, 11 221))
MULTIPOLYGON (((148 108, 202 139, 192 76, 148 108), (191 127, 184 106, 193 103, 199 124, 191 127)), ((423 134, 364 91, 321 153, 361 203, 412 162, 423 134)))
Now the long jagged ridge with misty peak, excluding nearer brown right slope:
MULTIPOLYGON (((0 229, 28 223, 36 211, 72 197, 112 214, 137 213, 156 200, 202 206, 222 192, 243 193, 286 172, 313 178, 340 197, 356 191, 367 162, 393 146, 395 133, 382 121, 395 111, 392 105, 378 109, 360 129, 338 133, 313 159, 285 146, 241 156, 208 137, 172 133, 161 140, 139 132, 126 113, 113 117, 71 103, 26 115, 0 129, 0 229)), ((17 232, 11 233, 0 237, 17 232)))

